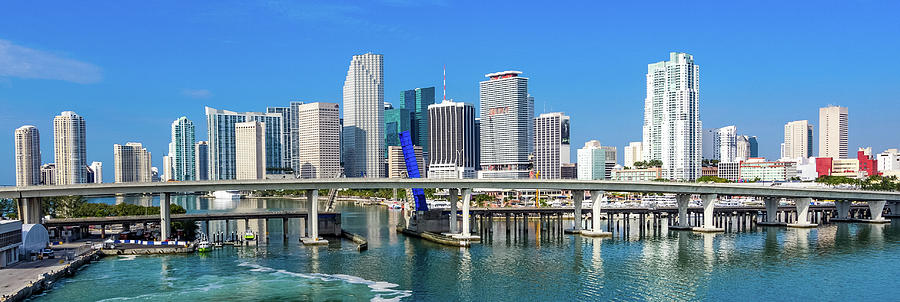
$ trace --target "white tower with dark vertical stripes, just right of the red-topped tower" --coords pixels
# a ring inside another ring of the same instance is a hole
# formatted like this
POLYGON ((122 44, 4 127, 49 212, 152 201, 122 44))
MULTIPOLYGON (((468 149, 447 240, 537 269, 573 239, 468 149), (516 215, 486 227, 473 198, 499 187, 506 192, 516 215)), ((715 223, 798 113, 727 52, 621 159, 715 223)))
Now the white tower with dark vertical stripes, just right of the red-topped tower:
POLYGON ((560 179, 562 163, 569 163, 569 116, 543 113, 534 118, 534 176, 560 179))

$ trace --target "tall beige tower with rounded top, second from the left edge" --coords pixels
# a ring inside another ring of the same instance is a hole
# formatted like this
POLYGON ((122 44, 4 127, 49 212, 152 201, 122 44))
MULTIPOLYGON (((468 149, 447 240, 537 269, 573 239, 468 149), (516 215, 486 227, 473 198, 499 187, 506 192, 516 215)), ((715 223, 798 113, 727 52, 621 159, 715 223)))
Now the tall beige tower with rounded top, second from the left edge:
POLYGON ((53 118, 53 160, 56 161, 54 184, 69 185, 87 182, 87 144, 84 118, 72 111, 63 111, 53 118))

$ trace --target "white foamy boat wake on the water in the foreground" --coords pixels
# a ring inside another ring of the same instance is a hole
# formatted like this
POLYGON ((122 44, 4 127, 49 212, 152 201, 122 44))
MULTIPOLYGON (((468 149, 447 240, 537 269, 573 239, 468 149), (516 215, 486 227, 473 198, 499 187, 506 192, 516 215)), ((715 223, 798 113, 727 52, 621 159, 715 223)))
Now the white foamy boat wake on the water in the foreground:
POLYGON ((289 275, 289 276, 294 276, 294 277, 300 277, 300 278, 304 278, 304 279, 315 279, 315 280, 322 280, 322 281, 342 281, 342 282, 346 282, 346 283, 350 283, 350 284, 366 285, 369 287, 369 289, 372 290, 373 293, 375 293, 375 297, 372 298, 372 301, 400 301, 400 299, 403 299, 403 298, 406 298, 406 297, 409 297, 412 295, 412 291, 395 289, 395 287, 399 286, 397 284, 390 283, 390 282, 383 282, 383 281, 366 280, 366 279, 363 279, 363 278, 360 278, 357 276, 344 275, 344 274, 331 275, 331 274, 322 274, 322 273, 310 273, 310 274, 295 273, 295 272, 289 272, 289 271, 282 270, 282 269, 274 269, 274 268, 270 268, 270 267, 265 267, 262 265, 248 263, 248 262, 241 262, 238 264, 238 266, 248 267, 248 268, 250 268, 251 272, 271 272, 271 273, 284 274, 284 275, 289 275))

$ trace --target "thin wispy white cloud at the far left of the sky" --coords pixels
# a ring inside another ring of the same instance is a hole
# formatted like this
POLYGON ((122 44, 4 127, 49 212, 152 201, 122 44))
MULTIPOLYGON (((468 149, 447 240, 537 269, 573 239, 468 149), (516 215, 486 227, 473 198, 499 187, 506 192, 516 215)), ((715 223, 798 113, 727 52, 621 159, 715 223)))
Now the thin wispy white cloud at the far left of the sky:
POLYGON ((79 84, 103 79, 100 67, 0 40, 0 77, 60 80, 79 84))

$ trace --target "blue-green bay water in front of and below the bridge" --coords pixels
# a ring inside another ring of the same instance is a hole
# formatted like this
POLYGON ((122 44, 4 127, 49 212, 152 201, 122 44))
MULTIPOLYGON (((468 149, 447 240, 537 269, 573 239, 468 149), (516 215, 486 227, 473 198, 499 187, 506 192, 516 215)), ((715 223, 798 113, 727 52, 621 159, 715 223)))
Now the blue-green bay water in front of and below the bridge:
MULTIPOLYGON (((299 204, 287 199, 175 201, 189 212, 299 204)), ((715 235, 651 232, 641 237, 633 231, 625 238, 591 239, 535 234, 537 221, 529 222, 527 237, 513 232, 506 238, 504 223, 497 220, 492 240, 464 249, 395 233, 397 211, 354 205, 339 210, 344 229, 369 240, 368 251, 357 252, 352 242, 337 240, 327 247, 302 246, 294 225, 284 241, 280 220, 273 220, 269 242, 259 247, 226 247, 208 255, 107 257, 36 300, 837 301, 900 296, 898 223, 715 235)))

